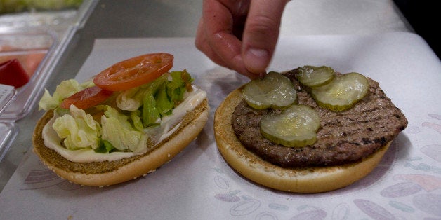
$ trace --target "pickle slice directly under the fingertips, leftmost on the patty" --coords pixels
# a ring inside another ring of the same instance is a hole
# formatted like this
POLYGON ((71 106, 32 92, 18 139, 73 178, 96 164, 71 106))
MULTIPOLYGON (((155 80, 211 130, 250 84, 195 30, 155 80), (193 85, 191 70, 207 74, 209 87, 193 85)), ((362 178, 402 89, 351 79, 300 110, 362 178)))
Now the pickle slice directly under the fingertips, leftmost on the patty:
POLYGON ((286 109, 297 99, 289 78, 275 71, 247 83, 243 93, 246 103, 254 109, 286 109))

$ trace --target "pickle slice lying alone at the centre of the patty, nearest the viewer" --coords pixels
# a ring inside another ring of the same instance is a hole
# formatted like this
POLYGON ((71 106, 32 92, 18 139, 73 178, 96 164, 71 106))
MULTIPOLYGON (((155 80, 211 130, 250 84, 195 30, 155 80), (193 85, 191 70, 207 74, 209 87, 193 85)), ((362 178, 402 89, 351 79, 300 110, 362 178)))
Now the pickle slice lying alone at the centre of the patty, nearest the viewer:
POLYGON ((293 104, 281 114, 268 114, 261 119, 263 137, 289 147, 314 144, 319 128, 319 115, 303 104, 293 104))

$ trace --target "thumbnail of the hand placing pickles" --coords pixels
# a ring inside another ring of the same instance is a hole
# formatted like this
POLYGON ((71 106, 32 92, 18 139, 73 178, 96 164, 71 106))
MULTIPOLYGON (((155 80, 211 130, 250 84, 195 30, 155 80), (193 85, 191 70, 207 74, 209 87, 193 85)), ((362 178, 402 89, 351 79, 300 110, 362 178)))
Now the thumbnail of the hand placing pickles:
POLYGON ((264 72, 268 65, 268 56, 267 50, 250 48, 244 57, 246 69, 258 74, 264 72))

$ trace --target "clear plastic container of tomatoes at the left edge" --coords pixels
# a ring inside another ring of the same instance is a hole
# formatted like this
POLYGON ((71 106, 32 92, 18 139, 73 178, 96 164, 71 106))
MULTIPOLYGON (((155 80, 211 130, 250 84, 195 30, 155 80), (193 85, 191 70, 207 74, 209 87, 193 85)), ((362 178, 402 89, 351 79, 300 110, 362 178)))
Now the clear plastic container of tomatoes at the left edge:
POLYGON ((11 100, 4 100, 8 104, 0 112, 0 120, 15 121, 29 114, 41 86, 46 85, 51 75, 51 58, 58 44, 55 33, 43 29, 0 32, 0 62, 18 59, 30 76, 25 85, 15 88, 11 100))

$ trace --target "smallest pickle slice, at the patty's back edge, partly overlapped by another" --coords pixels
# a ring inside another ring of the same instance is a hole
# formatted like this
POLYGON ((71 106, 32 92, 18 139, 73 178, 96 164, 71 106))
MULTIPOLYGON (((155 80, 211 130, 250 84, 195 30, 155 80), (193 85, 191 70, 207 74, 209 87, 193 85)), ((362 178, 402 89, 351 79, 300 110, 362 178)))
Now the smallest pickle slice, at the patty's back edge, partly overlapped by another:
POLYGON ((308 87, 316 87, 329 83, 336 73, 331 67, 303 66, 296 69, 296 78, 308 87))

